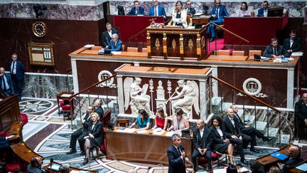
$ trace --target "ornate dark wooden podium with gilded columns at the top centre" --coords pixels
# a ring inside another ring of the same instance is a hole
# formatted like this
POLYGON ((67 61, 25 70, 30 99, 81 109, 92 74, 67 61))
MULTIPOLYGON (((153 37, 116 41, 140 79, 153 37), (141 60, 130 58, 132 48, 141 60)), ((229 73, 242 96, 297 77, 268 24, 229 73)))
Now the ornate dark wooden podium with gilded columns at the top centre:
POLYGON ((206 55, 205 27, 147 27, 149 58, 200 60, 206 55))

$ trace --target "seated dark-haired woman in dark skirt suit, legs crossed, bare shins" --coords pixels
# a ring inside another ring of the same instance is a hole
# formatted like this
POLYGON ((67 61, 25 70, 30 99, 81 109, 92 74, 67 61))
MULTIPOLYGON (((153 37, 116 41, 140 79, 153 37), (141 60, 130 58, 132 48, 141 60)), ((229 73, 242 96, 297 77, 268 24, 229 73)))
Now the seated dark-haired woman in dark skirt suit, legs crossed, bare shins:
MULTIPOLYGON (((213 116, 211 120, 211 137, 212 137, 212 148, 213 150, 225 153, 227 151, 230 156, 233 156, 233 146, 230 143, 231 136, 228 136, 226 132, 224 132, 220 125, 222 125, 222 118, 219 116, 213 116)), ((233 164, 233 157, 230 157, 230 163, 233 164)))

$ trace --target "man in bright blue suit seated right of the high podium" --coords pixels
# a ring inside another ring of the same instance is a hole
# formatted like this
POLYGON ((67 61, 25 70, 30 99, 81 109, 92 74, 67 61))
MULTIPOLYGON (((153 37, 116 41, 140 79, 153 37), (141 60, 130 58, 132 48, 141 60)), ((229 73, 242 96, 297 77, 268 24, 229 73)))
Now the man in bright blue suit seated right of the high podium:
MULTIPOLYGON (((213 6, 212 11, 210 11, 210 17, 212 22, 217 25, 222 25, 225 17, 229 16, 226 6, 222 5, 220 0, 215 0, 215 6, 213 6)), ((210 42, 215 40, 215 25, 210 24, 207 29, 207 33, 210 33, 210 42)))

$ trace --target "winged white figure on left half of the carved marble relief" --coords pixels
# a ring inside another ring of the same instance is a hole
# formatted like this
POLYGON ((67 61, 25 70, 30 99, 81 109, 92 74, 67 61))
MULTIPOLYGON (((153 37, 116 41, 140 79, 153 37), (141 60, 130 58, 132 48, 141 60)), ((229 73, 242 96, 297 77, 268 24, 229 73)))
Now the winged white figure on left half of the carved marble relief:
POLYGON ((151 97, 146 95, 148 84, 144 84, 143 88, 141 84, 141 78, 125 78, 124 80, 124 108, 127 110, 131 108, 133 115, 138 115, 139 110, 144 109, 146 112, 151 113, 150 100, 151 97), (130 101, 131 98, 131 101, 130 101), (129 102, 130 101, 130 102, 129 102))

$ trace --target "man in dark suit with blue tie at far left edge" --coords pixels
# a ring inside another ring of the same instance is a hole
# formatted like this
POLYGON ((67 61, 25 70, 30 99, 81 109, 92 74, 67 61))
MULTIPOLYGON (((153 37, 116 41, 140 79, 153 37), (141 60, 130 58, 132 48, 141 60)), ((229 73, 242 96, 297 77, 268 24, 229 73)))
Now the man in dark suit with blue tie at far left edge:
POLYGON ((3 67, 0 67, 0 89, 6 97, 14 95, 14 87, 11 81, 11 76, 5 73, 5 69, 3 67))

